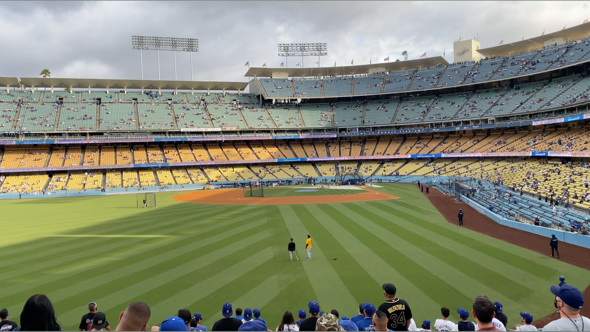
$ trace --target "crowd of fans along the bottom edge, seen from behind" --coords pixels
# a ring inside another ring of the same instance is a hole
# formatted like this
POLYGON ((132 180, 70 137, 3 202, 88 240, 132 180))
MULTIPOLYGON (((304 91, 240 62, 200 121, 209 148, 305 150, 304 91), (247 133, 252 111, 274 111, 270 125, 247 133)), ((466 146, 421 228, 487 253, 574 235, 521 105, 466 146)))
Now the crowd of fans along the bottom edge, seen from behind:
MULTIPOLYGON (((320 304, 309 302, 306 310, 299 310, 295 320, 291 311, 285 311, 280 323, 267 324, 261 318, 260 310, 251 308, 232 309, 228 302, 222 307, 222 317, 216 321, 211 331, 506 331, 508 318, 503 313, 500 302, 491 302, 486 295, 479 295, 473 301, 473 310, 458 308, 460 321, 448 320, 450 309, 441 308, 441 318, 434 322, 422 321, 417 327, 407 301, 396 297, 397 289, 393 284, 383 284, 385 302, 379 307, 372 303, 359 305, 359 313, 353 317, 340 317, 337 310, 330 313, 320 311, 320 304), (309 313, 309 317, 307 314, 309 313), (473 321, 469 320, 470 315, 473 321), (277 325, 275 325, 277 324, 277 325)), ((590 320, 580 315, 584 306, 582 292, 562 280, 550 291, 555 295, 553 305, 559 312, 559 318, 545 327, 543 331, 590 331, 590 320)), ((97 311, 96 302, 90 302, 89 313, 81 321, 80 331, 112 331, 106 315, 97 311)), ((145 302, 132 302, 120 313, 119 324, 115 331, 146 331, 151 311, 145 302)), ((520 313, 522 324, 517 324, 516 331, 536 331, 532 326, 533 317, 529 313, 520 313)), ((8 319, 8 311, 0 310, 0 331, 61 331, 60 323, 55 317, 53 305, 47 296, 36 294, 30 297, 22 308, 20 326, 8 319)), ((151 331, 207 331, 201 324, 203 317, 199 313, 191 314, 184 308, 178 314, 162 321, 160 326, 149 327, 151 331)))

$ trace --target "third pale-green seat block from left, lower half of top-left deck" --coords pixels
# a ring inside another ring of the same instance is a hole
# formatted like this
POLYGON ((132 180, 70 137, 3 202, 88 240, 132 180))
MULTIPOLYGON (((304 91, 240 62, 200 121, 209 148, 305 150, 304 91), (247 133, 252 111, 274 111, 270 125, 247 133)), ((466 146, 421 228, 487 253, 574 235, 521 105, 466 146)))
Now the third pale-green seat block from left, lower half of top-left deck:
POLYGON ((96 104, 65 104, 60 108, 57 131, 94 131, 96 104))

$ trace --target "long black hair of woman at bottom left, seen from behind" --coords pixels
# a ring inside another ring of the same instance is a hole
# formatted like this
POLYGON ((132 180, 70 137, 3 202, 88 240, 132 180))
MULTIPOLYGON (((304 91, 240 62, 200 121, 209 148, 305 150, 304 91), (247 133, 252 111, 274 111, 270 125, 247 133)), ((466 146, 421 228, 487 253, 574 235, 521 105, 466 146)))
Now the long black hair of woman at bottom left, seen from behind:
POLYGON ((25 302, 21 312, 21 331, 61 331, 51 301, 35 294, 25 302))

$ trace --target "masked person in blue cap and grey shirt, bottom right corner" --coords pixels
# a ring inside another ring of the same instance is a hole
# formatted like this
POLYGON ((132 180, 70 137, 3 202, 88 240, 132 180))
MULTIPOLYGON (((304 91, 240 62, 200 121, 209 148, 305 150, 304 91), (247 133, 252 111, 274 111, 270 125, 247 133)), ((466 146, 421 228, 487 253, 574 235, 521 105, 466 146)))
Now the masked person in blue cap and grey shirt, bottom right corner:
POLYGON ((543 327, 543 331, 590 331, 590 319, 580 314, 584 307, 582 292, 572 285, 553 285, 550 289, 560 318, 543 327))

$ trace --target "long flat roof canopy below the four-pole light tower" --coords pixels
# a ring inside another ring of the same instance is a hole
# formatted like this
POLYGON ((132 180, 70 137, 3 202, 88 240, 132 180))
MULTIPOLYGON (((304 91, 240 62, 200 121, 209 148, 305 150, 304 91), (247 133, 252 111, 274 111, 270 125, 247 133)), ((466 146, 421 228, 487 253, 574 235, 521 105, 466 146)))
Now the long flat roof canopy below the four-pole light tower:
MULTIPOLYGON (((61 79, 57 77, 21 77, 26 87, 64 87, 73 89, 182 89, 244 90, 248 82, 201 82, 166 80, 61 79)), ((0 78, 0 82, 1 78, 0 78)), ((17 82, 18 84, 18 82, 17 82)), ((4 84, 6 85, 6 84, 4 84)))

